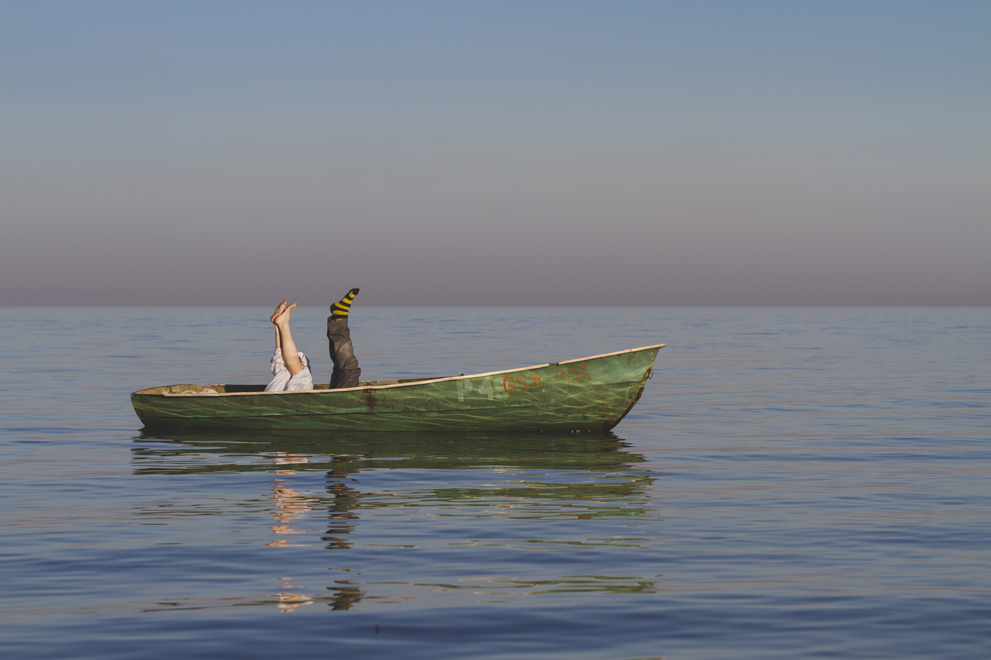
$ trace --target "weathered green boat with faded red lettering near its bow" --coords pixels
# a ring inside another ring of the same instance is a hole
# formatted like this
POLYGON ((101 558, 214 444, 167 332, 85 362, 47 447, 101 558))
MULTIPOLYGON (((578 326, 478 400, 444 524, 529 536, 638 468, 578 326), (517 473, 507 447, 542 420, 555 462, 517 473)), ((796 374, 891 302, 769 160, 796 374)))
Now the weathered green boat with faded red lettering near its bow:
POLYGON ((349 389, 261 392, 245 391, 249 385, 210 385, 220 393, 180 394, 183 389, 199 392, 202 386, 167 385, 136 391, 131 401, 148 427, 605 431, 640 398, 663 346, 490 374, 349 389))

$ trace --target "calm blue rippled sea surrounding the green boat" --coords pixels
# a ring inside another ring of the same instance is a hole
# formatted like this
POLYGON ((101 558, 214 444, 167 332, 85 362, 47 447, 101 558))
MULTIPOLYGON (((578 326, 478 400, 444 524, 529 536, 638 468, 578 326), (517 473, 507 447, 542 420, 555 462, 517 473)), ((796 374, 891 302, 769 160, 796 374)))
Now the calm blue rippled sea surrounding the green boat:
POLYGON ((668 347, 607 436, 141 430, 270 313, 0 308, 5 657, 991 657, 989 308, 359 299, 370 380, 668 347))

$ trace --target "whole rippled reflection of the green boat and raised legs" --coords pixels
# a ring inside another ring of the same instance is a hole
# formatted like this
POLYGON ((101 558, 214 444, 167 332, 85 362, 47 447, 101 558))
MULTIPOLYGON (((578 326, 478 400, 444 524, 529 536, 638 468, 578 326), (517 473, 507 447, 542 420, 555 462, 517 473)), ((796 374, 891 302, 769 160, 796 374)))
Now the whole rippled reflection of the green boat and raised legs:
MULTIPOLYGON (((649 542, 632 528, 655 514, 647 490, 657 475, 646 468, 643 456, 611 433, 381 435, 160 429, 142 433, 136 443, 133 466, 138 476, 200 475, 212 483, 213 474, 221 488, 231 483, 220 478, 225 473, 254 473, 247 481, 236 480, 239 485, 252 485, 247 492, 238 486, 238 495, 211 499, 211 513, 243 518, 246 511, 255 511, 261 519, 252 523, 251 542, 272 548, 267 566, 279 567, 276 575, 300 577, 296 553, 328 553, 333 581, 320 590, 312 575, 302 576, 306 582, 298 586, 291 578, 279 578, 284 582, 269 595, 275 599, 269 603, 279 611, 316 604, 343 610, 366 601, 393 602, 452 590, 501 595, 499 599, 512 594, 655 591, 656 581, 646 571, 609 575, 537 571, 523 577, 498 572, 480 577, 473 571, 471 580, 463 580, 417 567, 415 561, 404 563, 412 555, 388 554, 411 552, 424 540, 439 541, 453 551, 504 546, 540 552, 558 548, 566 553, 576 547, 616 549, 649 542), (414 520, 424 514, 442 524, 420 527, 414 520), (538 519, 563 521, 564 527, 556 527, 554 533, 550 525, 520 522, 538 519), (555 538, 577 520, 598 520, 606 527, 597 523, 592 538, 555 538), (449 524, 458 531, 439 531, 449 524), (520 537, 524 527, 533 531, 523 531, 526 535, 520 537), (529 536, 538 529, 539 538, 529 536), (605 529, 616 535, 600 538, 604 534, 599 530, 605 529), (372 557, 396 561, 385 567, 370 564, 372 557)), ((213 491, 212 484, 208 488, 213 491)), ((170 499, 168 515, 204 512, 201 501, 191 500, 187 508, 183 501, 170 499)), ((158 502, 136 504, 136 511, 163 514, 158 502)), ((239 543, 248 540, 239 534, 239 543)), ((478 552, 472 550, 472 556, 478 552)))

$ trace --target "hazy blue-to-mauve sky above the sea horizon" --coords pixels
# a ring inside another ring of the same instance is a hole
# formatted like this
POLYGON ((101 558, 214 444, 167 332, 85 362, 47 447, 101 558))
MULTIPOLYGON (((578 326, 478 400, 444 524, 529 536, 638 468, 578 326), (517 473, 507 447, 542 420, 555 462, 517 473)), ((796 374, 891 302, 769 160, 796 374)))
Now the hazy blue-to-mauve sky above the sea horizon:
POLYGON ((991 3, 0 1, 0 304, 991 304, 991 3))

